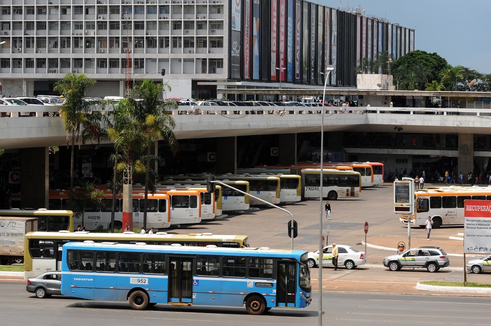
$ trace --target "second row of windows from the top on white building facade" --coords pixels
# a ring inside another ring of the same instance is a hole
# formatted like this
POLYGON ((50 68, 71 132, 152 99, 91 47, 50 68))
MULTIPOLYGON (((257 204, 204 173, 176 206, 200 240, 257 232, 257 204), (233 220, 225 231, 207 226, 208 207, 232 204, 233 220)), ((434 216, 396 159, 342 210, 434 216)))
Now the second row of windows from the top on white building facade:
POLYGON ((180 29, 223 29, 223 22, 205 22, 205 21, 130 21, 121 22, 120 20, 109 20, 109 21, 77 21, 77 22, 58 22, 58 21, 48 21, 48 22, 2 22, 0 25, 1 31, 9 30, 169 30, 172 26, 173 30, 180 29), (97 23, 97 24, 96 24, 97 23), (12 28, 10 28, 12 27, 12 28), (145 28, 146 27, 146 28, 145 28), (184 28, 183 28, 184 27, 184 28))

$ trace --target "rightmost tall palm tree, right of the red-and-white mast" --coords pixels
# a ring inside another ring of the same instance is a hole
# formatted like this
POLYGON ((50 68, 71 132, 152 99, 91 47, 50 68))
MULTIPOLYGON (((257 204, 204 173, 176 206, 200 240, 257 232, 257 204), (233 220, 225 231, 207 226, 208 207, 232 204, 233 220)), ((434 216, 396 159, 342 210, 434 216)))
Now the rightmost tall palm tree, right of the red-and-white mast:
POLYGON ((178 141, 172 129, 175 128, 175 122, 167 109, 177 109, 177 103, 174 101, 165 101, 163 104, 160 100, 164 90, 170 90, 168 83, 155 83, 151 80, 143 80, 135 85, 134 93, 140 101, 136 101, 136 108, 141 119, 141 131, 145 134, 146 170, 145 170, 145 200, 143 204, 143 227, 147 223, 147 199, 150 179, 150 157, 152 144, 163 138, 170 146, 173 154, 177 153, 178 141))

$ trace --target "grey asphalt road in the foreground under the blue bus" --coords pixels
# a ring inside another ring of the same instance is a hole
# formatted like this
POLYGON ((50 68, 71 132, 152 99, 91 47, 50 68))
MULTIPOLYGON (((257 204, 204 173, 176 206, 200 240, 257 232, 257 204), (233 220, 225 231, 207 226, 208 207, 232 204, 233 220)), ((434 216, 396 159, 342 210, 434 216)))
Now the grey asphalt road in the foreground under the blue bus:
MULTIPOLYGON (((124 302, 54 296, 36 299, 25 283, 0 282, 1 325, 318 325, 318 296, 304 309, 272 309, 250 316, 245 308, 156 305, 135 311, 124 302)), ((323 292, 322 324, 346 325, 490 325, 488 298, 323 292)))

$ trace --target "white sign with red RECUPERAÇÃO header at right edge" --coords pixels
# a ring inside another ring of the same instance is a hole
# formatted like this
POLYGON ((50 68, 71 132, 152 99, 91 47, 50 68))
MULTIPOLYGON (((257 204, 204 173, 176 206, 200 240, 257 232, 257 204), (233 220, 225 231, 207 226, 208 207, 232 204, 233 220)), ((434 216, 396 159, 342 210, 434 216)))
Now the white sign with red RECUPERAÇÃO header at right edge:
POLYGON ((464 201, 464 253, 491 253, 491 201, 464 201))

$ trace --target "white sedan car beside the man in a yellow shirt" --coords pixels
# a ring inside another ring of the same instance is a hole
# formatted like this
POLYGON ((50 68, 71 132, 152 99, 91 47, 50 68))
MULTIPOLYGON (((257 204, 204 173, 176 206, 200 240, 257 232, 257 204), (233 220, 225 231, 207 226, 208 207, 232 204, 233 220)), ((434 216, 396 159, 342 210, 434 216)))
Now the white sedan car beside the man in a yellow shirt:
MULTIPOLYGON (((339 248, 338 253, 338 266, 344 265, 346 269, 352 270, 356 266, 360 266, 366 263, 367 256, 363 251, 351 247, 349 245, 336 245, 339 248)), ((322 250, 322 265, 332 265, 332 245, 325 246, 322 250)), ((319 250, 308 253, 308 266, 310 268, 319 265, 319 250)))

